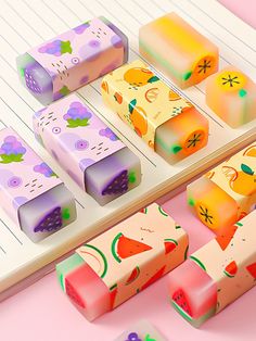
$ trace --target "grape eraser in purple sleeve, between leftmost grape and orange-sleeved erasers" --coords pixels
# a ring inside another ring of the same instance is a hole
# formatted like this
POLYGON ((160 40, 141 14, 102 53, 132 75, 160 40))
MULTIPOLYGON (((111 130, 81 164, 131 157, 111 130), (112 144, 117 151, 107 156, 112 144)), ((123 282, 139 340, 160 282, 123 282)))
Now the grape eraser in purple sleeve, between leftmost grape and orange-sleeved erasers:
POLYGON ((37 112, 34 130, 77 185, 101 205, 141 181, 139 157, 76 94, 37 112))

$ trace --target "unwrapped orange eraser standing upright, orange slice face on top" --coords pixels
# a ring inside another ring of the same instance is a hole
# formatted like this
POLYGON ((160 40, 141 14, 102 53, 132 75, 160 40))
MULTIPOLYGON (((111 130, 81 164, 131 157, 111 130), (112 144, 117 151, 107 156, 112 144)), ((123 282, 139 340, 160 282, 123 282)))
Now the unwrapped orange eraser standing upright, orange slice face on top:
POLYGON ((207 105, 232 128, 256 118, 256 84, 234 66, 206 81, 207 105))

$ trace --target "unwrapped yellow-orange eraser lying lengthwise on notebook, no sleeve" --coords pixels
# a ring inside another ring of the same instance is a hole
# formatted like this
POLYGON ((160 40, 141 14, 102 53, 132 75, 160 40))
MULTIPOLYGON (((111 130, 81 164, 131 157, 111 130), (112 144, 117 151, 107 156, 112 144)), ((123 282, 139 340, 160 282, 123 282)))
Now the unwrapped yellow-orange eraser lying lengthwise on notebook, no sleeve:
POLYGON ((171 12, 140 28, 140 53, 184 89, 218 70, 218 48, 171 12))

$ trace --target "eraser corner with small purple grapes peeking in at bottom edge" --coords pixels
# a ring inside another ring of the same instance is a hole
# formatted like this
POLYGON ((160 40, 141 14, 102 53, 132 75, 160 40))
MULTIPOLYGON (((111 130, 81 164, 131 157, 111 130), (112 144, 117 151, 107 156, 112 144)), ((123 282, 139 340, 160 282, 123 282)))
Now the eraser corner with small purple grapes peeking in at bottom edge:
POLYGON ((167 341, 148 320, 140 320, 115 341, 167 341))

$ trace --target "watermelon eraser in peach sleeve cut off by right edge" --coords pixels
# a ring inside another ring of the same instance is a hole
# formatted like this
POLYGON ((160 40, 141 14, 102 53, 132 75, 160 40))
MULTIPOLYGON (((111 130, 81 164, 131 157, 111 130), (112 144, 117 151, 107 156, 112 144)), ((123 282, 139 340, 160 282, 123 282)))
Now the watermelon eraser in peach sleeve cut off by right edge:
POLYGON ((256 211, 226 227, 168 276, 172 306, 200 327, 256 285, 256 211))

